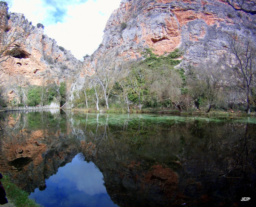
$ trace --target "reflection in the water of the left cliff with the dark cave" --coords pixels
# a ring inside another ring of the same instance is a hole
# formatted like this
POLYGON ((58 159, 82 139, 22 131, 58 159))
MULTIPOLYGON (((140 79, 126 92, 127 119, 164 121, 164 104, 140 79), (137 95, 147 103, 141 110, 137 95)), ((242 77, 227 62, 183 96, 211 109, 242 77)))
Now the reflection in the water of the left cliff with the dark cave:
POLYGON ((1 127, 1 172, 29 192, 44 189, 45 179, 79 151, 65 113, 2 115, 1 127))

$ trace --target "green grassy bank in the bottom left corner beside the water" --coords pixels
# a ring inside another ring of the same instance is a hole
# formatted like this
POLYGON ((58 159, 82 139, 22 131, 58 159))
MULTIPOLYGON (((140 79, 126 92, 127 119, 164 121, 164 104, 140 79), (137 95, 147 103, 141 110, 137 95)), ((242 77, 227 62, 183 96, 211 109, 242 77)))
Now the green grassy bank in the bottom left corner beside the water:
POLYGON ((9 202, 14 203, 16 207, 41 207, 35 200, 28 198, 29 193, 19 189, 11 179, 4 175, 2 179, 6 197, 9 202))

